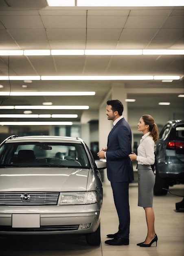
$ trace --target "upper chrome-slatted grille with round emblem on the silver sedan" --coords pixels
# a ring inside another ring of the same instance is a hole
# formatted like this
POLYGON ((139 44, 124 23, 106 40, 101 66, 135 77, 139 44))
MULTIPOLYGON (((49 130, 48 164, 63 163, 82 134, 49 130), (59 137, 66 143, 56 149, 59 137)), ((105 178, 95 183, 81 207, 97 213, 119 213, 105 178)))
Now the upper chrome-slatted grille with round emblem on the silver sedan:
POLYGON ((0 193, 0 205, 57 205, 59 192, 0 193))

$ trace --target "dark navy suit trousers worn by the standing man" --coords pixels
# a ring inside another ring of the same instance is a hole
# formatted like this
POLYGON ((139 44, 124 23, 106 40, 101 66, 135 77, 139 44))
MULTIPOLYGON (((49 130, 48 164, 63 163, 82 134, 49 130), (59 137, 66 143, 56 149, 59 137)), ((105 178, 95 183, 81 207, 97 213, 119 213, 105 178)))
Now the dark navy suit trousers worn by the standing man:
POLYGON ((111 182, 111 187, 119 219, 117 236, 128 239, 130 230, 129 182, 111 182))

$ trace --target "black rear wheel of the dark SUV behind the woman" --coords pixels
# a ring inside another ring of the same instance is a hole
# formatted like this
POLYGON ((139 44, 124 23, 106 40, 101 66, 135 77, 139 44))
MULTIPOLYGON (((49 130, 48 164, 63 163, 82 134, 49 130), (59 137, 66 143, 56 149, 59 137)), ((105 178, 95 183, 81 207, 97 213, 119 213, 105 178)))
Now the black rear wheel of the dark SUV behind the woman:
POLYGON ((167 184, 166 180, 160 177, 158 173, 158 169, 156 167, 156 178, 155 178, 155 186, 153 188, 153 193, 154 195, 166 195, 167 194, 166 189, 169 189, 169 185, 167 184))

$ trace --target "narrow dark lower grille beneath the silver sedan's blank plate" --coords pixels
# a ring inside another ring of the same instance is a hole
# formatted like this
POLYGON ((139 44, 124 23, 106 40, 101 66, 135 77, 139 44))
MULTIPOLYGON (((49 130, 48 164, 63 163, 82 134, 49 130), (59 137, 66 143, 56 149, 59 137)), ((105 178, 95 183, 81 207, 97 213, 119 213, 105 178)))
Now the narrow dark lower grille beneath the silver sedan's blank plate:
POLYGON ((52 232, 52 231, 74 231, 79 225, 40 226, 39 228, 13 228, 11 226, 0 226, 1 231, 6 232, 52 232))

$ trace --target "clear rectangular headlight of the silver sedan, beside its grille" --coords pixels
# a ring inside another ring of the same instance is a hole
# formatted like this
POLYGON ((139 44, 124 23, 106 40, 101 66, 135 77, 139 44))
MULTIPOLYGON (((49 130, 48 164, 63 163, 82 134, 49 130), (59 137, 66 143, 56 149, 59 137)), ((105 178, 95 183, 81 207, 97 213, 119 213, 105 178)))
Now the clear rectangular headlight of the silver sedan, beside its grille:
POLYGON ((97 202, 96 192, 62 192, 61 204, 94 204, 97 202))

